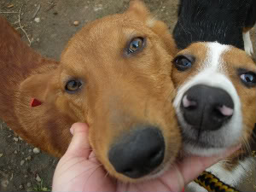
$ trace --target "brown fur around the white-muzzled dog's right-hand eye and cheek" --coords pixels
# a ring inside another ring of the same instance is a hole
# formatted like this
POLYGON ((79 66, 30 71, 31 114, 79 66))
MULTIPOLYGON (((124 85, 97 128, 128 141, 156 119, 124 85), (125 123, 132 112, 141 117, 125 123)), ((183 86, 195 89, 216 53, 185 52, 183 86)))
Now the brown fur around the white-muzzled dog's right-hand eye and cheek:
POLYGON ((229 52, 224 53, 223 60, 227 61, 227 74, 230 77, 232 83, 235 85, 238 96, 241 100, 241 111, 243 118, 243 135, 242 135, 242 148, 235 154, 231 155, 228 159, 229 164, 226 169, 232 169, 232 167, 237 166, 239 160, 243 160, 248 156, 252 155, 251 147, 253 146, 253 128, 256 123, 255 113, 256 113, 256 90, 255 88, 246 88, 241 84, 241 80, 236 73, 236 69, 243 67, 247 68, 249 71, 256 71, 255 63, 252 58, 247 55, 243 50, 232 48, 229 52))

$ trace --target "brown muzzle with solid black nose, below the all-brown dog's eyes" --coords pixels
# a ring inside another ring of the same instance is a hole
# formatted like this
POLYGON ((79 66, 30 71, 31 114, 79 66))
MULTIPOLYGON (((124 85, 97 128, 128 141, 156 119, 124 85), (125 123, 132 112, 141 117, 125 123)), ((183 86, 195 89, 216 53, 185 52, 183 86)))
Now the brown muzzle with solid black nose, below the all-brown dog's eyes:
POLYGON ((92 112, 90 142, 110 175, 137 182, 166 170, 177 155, 180 133, 171 102, 156 100, 149 90, 122 87, 121 95, 117 90, 99 95, 95 108, 101 111, 92 112))

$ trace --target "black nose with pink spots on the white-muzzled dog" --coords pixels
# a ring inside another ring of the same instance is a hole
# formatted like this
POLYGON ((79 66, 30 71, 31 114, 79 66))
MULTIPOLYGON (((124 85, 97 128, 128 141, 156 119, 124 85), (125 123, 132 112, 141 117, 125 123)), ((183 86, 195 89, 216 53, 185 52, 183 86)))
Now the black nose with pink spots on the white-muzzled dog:
POLYGON ((234 113, 234 102, 225 90, 198 84, 183 95, 183 118, 195 129, 216 131, 234 113))

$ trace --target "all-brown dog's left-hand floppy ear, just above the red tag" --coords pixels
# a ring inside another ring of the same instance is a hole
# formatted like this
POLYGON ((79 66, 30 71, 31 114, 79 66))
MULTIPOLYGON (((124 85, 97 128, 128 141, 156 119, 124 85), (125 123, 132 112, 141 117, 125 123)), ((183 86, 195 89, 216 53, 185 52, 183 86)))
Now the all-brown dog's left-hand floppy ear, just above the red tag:
POLYGON ((48 73, 32 75, 20 84, 20 91, 38 102, 51 102, 59 90, 58 71, 55 69, 48 73))

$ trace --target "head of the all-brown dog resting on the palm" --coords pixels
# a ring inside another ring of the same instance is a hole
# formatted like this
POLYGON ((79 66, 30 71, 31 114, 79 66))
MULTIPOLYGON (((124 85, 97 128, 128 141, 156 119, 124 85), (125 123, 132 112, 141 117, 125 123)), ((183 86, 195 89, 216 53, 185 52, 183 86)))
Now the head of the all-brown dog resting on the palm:
POLYGON ((73 122, 86 122, 90 144, 112 176, 154 177, 181 144, 171 43, 166 25, 133 1, 124 14, 85 26, 67 44, 61 65, 26 79, 22 89, 73 122))

